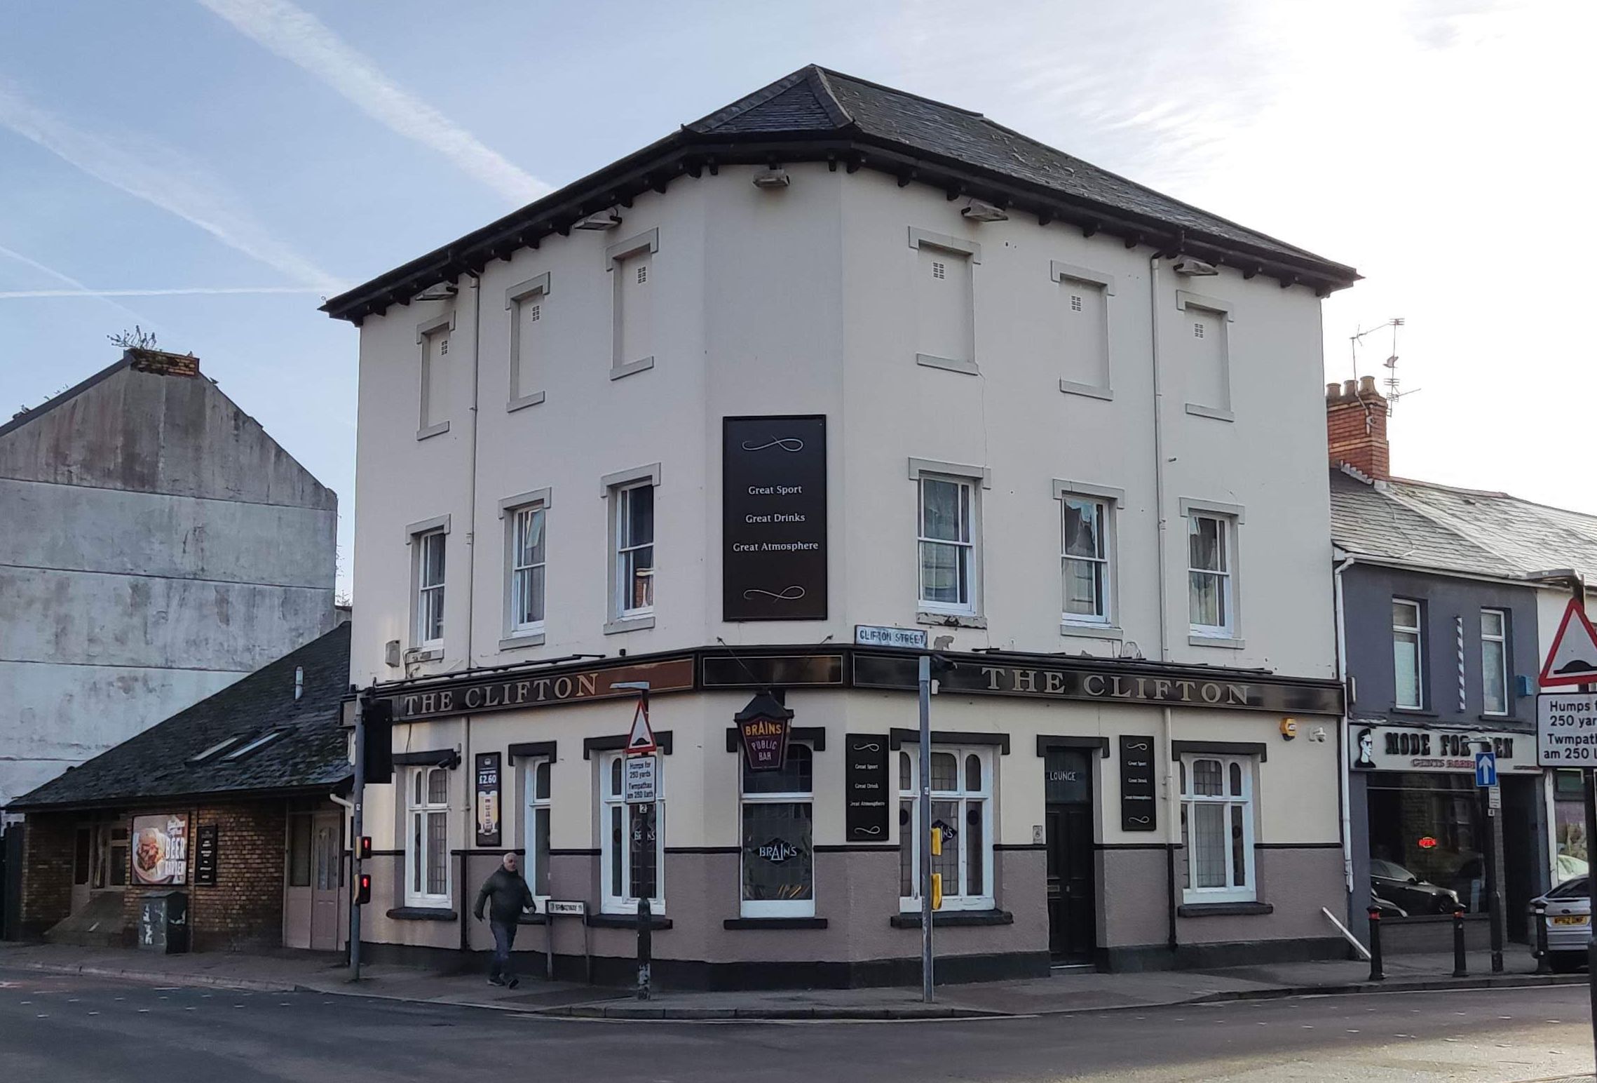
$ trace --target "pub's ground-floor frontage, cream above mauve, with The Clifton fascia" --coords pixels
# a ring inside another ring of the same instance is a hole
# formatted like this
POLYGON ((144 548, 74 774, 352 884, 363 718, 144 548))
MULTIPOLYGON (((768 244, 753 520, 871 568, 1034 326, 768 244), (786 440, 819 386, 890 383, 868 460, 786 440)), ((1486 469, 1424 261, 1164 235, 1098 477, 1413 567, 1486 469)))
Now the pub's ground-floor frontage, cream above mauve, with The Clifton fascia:
POLYGON ((921 847, 939 981, 1345 950, 1321 914, 1341 895, 1333 682, 953 661, 925 824, 907 650, 706 649, 377 690, 396 725, 394 783, 366 805, 371 957, 470 965, 489 939, 468 907, 516 850, 540 898, 517 939, 533 970, 631 981, 647 898, 664 984, 913 984, 921 847), (642 682, 652 757, 626 751, 642 682))

